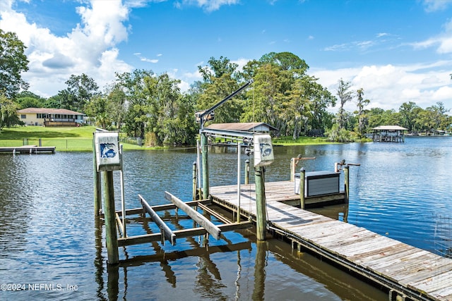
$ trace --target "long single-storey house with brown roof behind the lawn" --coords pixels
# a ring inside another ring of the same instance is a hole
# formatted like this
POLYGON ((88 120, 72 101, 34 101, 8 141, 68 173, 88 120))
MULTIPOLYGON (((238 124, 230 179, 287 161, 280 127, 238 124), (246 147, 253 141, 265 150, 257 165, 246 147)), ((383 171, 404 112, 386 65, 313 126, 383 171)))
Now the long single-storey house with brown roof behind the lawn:
POLYGON ((17 111, 25 125, 79 126, 83 123, 83 113, 67 109, 27 108, 17 111))

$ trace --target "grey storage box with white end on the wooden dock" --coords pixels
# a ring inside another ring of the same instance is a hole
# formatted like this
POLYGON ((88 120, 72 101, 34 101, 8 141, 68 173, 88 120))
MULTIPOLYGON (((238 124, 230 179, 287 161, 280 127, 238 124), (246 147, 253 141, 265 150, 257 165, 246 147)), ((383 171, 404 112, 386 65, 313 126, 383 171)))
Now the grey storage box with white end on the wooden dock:
MULTIPOLYGON (((311 171, 305 173, 304 195, 330 195, 339 193, 340 173, 332 171, 311 171)), ((295 173, 295 194, 299 195, 299 173, 295 173)))

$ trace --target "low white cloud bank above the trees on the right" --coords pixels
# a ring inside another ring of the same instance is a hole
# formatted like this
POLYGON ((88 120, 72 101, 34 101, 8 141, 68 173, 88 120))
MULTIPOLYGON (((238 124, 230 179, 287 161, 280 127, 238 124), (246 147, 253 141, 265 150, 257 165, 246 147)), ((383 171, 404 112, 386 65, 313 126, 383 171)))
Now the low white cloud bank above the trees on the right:
MULTIPOLYGON (((309 74, 319 78, 319 83, 336 95, 338 80, 343 78, 352 84, 351 90, 364 89, 364 97, 370 100, 368 108, 396 109, 404 102, 415 102, 426 108, 436 102, 444 102, 452 108, 452 62, 444 61, 431 65, 406 66, 362 66, 338 70, 309 70, 309 74), (438 67, 442 70, 438 70, 438 67)), ((337 112, 337 107, 331 109, 337 112)), ((356 104, 348 103, 348 111, 354 111, 356 104)))

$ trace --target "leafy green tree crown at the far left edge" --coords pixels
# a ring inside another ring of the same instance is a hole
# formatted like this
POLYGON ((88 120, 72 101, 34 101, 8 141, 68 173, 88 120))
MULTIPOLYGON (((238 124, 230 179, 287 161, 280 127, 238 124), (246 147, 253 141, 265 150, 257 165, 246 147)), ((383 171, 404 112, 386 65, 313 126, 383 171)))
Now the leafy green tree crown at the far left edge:
POLYGON ((25 48, 14 32, 0 29, 0 93, 9 99, 14 99, 20 89, 28 89, 20 74, 28 70, 25 48))

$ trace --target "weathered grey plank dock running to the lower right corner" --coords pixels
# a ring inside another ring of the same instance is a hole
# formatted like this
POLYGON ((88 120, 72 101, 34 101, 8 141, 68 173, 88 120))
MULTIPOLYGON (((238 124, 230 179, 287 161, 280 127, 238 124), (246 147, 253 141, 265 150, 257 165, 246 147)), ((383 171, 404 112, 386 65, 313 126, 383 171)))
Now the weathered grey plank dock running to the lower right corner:
MULTIPOLYGON (((268 231, 388 289, 389 300, 452 300, 452 259, 350 223, 284 204, 299 199, 290 181, 266 183, 268 231)), ((240 210, 256 220, 254 184, 241 185, 240 210)), ((237 185, 210 188, 215 204, 237 211, 237 185)))

